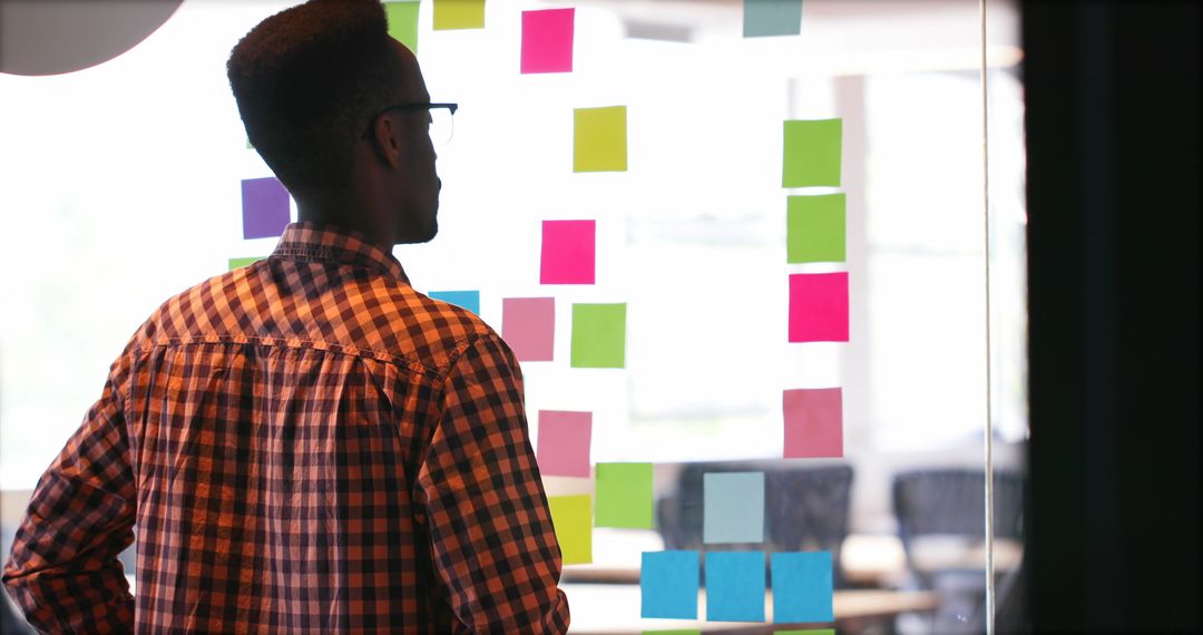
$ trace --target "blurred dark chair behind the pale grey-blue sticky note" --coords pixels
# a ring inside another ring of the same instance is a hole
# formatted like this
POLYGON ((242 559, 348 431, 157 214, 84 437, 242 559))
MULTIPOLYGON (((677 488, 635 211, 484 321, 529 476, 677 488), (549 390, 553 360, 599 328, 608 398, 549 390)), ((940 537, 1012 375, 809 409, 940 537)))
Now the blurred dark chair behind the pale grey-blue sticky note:
POLYGON ((840 547, 848 535, 852 467, 801 468, 748 462, 688 463, 676 492, 656 504, 668 550, 830 551, 836 588, 843 586, 840 547), (764 471, 765 541, 703 544, 703 481, 707 473, 764 471))

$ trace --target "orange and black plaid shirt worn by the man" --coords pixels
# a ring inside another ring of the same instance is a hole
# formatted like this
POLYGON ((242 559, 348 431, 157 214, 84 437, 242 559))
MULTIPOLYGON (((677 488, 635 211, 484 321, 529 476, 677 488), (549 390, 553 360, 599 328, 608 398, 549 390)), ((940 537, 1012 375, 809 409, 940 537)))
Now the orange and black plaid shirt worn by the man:
POLYGON ((138 330, 4 581, 52 633, 563 633, 559 572, 510 350, 295 224, 138 330))

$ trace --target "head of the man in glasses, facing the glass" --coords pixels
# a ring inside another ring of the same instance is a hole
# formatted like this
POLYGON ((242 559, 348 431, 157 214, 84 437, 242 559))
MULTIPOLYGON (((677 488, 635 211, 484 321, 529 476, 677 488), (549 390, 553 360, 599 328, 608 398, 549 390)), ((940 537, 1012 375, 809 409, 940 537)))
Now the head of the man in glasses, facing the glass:
POLYGON ((310 0, 256 25, 226 64, 247 136, 302 209, 393 243, 437 232, 417 60, 377 0, 310 0), (338 218, 339 215, 366 218, 338 218), (333 216, 333 218, 331 218, 333 216))

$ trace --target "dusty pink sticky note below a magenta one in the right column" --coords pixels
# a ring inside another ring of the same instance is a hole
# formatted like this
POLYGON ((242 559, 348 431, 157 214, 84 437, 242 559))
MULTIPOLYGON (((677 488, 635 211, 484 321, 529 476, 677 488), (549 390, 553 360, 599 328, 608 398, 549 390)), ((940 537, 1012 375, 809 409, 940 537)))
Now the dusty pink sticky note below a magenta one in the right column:
POLYGON ((843 390, 787 390, 786 458, 843 456, 843 390))

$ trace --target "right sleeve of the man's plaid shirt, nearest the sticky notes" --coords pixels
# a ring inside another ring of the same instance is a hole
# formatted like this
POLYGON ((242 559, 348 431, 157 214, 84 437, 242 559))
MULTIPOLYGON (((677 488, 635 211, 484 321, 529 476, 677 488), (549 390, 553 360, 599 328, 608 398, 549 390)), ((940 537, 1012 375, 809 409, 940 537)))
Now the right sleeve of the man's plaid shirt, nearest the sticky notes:
POLYGON ((517 361, 481 336, 450 369, 419 470, 437 577, 463 633, 565 633, 559 544, 531 449, 517 361))

